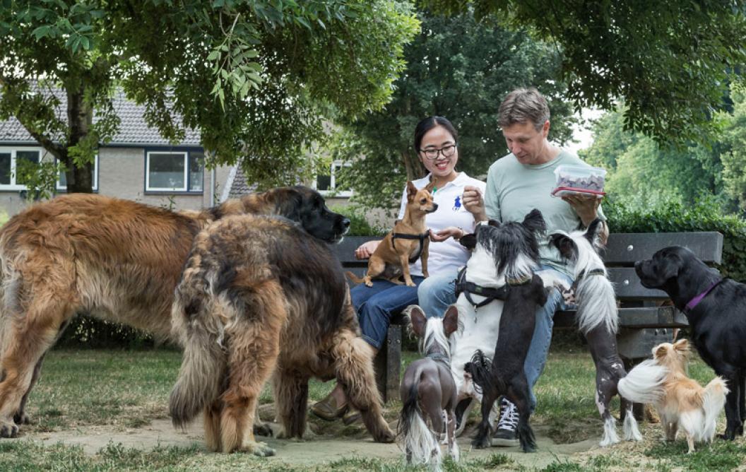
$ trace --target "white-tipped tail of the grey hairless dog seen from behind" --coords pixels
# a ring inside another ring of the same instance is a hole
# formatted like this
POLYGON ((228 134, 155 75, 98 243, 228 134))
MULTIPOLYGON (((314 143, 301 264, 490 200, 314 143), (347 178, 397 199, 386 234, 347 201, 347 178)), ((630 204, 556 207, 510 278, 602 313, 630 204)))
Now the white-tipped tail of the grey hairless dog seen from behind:
MULTIPOLYGON (((419 376, 416 376, 419 377, 419 376)), ((410 386, 409 397, 401 406, 398 435, 404 443, 407 459, 413 464, 430 464, 440 470, 442 453, 437 435, 427 427, 418 401, 418 383, 410 386)))

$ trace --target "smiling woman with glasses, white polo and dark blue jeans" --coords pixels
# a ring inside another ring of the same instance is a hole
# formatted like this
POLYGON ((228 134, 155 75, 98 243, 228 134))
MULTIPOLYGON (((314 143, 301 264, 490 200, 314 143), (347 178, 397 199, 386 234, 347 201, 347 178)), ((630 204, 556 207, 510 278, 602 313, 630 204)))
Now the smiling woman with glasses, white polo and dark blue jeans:
MULTIPOLYGON (((417 189, 433 183, 433 200, 438 209, 425 217, 430 229, 430 244, 427 268, 430 276, 456 278, 458 268, 466 265, 468 251, 457 239, 474 231, 474 215, 463 206, 461 199, 464 186, 472 186, 484 193, 486 184, 457 172, 459 149, 458 133, 454 125, 442 116, 423 119, 415 128, 414 148, 427 175, 413 183, 417 189)), ((398 218, 404 218, 407 206, 407 189, 401 196, 398 218)), ((366 242, 355 250, 357 259, 368 259, 380 241, 366 242)), ((375 279, 372 287, 360 284, 351 289, 352 302, 357 309, 363 339, 377 352, 386 339, 389 319, 405 307, 418 303, 417 286, 424 280, 419 259, 410 264, 414 287, 396 285, 388 280, 375 279)), ((442 316, 442 313, 427 312, 427 316, 442 316)), ((311 412, 326 420, 342 417, 345 424, 360 418, 360 413, 348 409, 342 387, 337 384, 324 400, 316 403, 311 412)))

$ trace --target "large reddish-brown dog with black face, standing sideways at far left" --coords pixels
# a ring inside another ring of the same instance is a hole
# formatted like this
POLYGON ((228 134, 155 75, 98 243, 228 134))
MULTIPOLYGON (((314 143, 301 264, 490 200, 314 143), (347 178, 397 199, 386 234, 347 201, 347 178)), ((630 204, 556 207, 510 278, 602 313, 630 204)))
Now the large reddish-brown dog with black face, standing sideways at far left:
POLYGON ((174 213, 98 195, 37 204, 0 229, 0 437, 28 421, 24 408, 46 350, 76 313, 168 338, 173 292, 195 235, 226 215, 283 215, 336 242, 349 220, 305 187, 174 213))

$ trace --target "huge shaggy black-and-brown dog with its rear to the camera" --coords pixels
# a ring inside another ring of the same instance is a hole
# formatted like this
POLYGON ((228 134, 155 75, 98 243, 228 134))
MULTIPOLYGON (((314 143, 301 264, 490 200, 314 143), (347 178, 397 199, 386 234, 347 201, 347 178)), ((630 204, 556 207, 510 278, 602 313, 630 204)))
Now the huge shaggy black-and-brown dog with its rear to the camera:
POLYGON ((204 412, 211 450, 274 453, 252 432, 257 399, 273 373, 283 437, 305 431, 310 377, 336 377, 373 437, 393 441, 342 267, 295 224, 239 215, 205 228, 176 289, 172 318, 186 348, 171 417, 184 427, 204 412))

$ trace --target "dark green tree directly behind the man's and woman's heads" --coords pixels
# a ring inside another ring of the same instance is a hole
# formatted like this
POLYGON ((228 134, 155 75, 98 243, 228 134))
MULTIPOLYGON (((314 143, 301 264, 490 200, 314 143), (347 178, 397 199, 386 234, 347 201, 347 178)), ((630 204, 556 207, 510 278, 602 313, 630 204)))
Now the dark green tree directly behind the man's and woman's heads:
POLYGON ((339 153, 334 157, 354 157, 345 177, 366 206, 389 206, 407 179, 424 174, 412 142, 425 116, 454 123, 460 132, 457 169, 473 176, 484 176, 507 154, 498 107, 515 87, 537 86, 548 97, 551 139, 565 142, 571 136, 571 105, 562 99, 565 86, 554 80, 560 65, 554 48, 525 32, 482 25, 470 13, 448 18, 422 13, 421 21, 421 34, 404 48, 408 66, 394 84, 392 101, 347 122, 339 140, 345 145, 334 148, 339 153))

